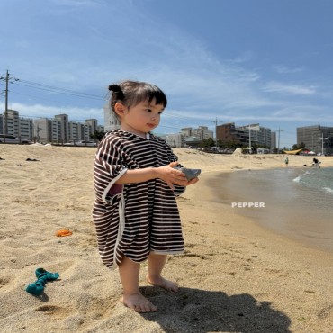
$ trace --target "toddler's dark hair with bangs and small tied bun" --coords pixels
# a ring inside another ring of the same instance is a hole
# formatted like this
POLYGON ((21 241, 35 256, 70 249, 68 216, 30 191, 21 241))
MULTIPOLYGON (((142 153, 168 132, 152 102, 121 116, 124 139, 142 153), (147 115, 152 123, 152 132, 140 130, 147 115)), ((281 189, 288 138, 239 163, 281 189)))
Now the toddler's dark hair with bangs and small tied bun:
POLYGON ((166 94, 156 85, 150 85, 146 82, 123 81, 119 85, 109 85, 109 90, 112 91, 110 106, 113 112, 117 102, 123 103, 128 108, 141 102, 151 103, 153 99, 164 107, 167 104, 166 94))

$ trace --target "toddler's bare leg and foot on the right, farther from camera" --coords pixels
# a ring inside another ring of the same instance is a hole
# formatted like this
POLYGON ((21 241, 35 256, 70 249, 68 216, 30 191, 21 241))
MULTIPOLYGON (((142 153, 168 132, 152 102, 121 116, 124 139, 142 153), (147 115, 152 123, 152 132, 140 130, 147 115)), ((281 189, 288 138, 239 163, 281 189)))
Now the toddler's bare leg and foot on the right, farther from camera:
POLYGON ((178 286, 172 281, 161 276, 163 267, 166 264, 166 255, 150 253, 148 257, 148 283, 158 285, 169 292, 178 292, 178 286))

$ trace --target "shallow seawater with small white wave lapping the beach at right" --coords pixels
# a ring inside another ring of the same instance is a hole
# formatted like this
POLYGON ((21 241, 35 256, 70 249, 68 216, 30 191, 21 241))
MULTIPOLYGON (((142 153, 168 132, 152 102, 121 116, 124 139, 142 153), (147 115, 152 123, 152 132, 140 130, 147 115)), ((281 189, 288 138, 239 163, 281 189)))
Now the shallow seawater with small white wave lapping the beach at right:
POLYGON ((333 168, 238 170, 211 181, 217 200, 263 202, 233 210, 263 227, 333 252, 333 168), (263 205, 261 205, 263 206, 263 205))

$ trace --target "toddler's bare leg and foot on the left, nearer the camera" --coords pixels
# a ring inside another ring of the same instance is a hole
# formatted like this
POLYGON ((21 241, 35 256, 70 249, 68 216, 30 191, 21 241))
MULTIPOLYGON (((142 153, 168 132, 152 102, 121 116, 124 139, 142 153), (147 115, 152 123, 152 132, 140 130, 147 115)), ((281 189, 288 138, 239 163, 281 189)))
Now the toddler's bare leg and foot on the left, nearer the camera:
POLYGON ((157 307, 139 292, 139 264, 123 257, 119 266, 123 288, 122 302, 137 312, 157 311, 157 307))

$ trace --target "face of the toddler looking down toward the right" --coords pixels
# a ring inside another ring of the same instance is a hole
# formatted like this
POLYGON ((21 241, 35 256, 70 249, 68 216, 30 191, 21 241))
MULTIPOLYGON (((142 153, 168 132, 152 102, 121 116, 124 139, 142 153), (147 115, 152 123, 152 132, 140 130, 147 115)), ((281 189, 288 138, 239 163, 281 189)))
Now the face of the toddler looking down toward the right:
POLYGON ((151 103, 141 102, 130 109, 123 106, 123 111, 117 113, 121 119, 122 130, 145 137, 147 132, 157 128, 163 110, 163 105, 152 100, 151 103))

